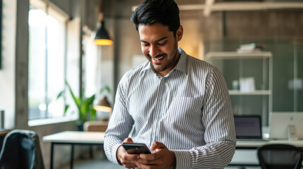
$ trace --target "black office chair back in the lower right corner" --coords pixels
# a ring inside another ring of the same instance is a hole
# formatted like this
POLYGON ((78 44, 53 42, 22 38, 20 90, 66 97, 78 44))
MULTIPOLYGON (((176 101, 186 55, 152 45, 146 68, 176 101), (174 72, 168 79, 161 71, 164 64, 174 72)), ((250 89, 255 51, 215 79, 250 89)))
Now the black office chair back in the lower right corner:
POLYGON ((267 144, 258 149, 262 169, 299 169, 302 166, 302 151, 288 144, 267 144))

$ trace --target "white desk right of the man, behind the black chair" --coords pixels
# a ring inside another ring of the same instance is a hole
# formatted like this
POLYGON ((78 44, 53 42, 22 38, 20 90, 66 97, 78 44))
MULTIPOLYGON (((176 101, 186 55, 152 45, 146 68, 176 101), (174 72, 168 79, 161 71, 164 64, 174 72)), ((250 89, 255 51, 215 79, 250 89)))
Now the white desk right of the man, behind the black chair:
POLYGON ((303 140, 288 141, 288 140, 271 140, 264 141, 237 141, 236 152, 230 165, 257 166, 259 160, 256 150, 266 144, 291 144, 303 149, 303 140))

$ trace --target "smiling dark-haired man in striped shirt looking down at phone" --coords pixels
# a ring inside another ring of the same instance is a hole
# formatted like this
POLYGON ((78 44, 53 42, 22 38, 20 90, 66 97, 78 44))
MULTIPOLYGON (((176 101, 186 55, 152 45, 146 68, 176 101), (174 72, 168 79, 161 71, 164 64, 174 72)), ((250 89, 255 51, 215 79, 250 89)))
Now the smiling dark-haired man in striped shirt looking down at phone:
POLYGON ((224 168, 236 143, 224 78, 178 48, 183 27, 173 0, 144 1, 131 21, 148 61, 119 82, 107 158, 126 168, 224 168), (154 153, 127 154, 122 142, 145 143, 154 153))

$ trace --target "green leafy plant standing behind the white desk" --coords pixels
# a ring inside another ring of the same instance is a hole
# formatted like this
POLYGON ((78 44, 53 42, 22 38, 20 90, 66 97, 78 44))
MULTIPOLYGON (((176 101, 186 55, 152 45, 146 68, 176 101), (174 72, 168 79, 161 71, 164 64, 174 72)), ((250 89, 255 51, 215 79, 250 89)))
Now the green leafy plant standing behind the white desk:
MULTIPOLYGON (((96 111, 93 108, 93 104, 95 101, 95 94, 93 94, 93 96, 90 97, 77 97, 74 93, 73 90, 71 89, 71 85, 69 84, 69 82, 67 82, 65 80, 65 84, 66 87, 69 89, 69 94, 71 94, 71 98, 73 99, 74 104, 76 105, 76 108, 78 111, 78 121, 77 121, 77 125, 79 127, 79 130, 83 130, 83 123, 85 123, 85 121, 87 120, 95 120, 95 115, 96 115, 96 111), (82 126, 82 127, 81 127, 82 126)), ((100 94, 102 94, 102 92, 105 92, 105 90, 110 93, 110 89, 108 86, 102 87, 100 89, 100 94)), ((65 91, 62 90, 61 92, 59 92, 57 99, 64 97, 65 96, 65 91)), ((70 105, 66 104, 65 108, 64 108, 64 115, 66 115, 66 111, 69 109, 70 105)))

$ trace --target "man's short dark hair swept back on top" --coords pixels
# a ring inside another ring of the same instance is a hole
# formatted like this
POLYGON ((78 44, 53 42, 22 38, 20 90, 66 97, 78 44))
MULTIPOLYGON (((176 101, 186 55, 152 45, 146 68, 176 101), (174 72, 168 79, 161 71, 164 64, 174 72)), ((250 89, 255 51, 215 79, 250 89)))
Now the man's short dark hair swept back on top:
POLYGON ((131 15, 131 21, 138 30, 138 25, 161 23, 176 32, 180 27, 179 8, 174 0, 145 0, 131 15))

